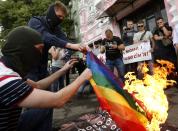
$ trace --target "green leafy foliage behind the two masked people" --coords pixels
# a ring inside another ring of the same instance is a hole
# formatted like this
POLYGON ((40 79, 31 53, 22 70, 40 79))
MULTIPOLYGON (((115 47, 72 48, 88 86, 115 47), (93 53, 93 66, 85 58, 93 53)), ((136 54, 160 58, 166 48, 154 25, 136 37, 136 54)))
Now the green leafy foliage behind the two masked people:
MULTIPOLYGON (((0 39, 17 26, 27 25, 32 16, 44 15, 48 6, 55 0, 6 0, 0 1, 0 25, 3 26, 0 39)), ((68 4, 69 0, 61 0, 68 4)), ((63 28, 68 31, 71 21, 65 20, 63 28)), ((2 44, 0 42, 0 44, 2 44)))

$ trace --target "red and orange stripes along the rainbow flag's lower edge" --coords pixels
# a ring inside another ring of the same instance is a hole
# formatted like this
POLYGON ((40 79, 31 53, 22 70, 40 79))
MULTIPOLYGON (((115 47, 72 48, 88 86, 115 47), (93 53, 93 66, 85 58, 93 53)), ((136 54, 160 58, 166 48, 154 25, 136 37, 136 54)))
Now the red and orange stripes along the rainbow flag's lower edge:
POLYGON ((104 96, 104 94, 102 94, 100 87, 97 85, 92 86, 97 95, 101 108, 108 111, 116 125, 120 127, 122 131, 146 131, 146 123, 144 124, 144 120, 147 122, 147 119, 143 114, 137 112, 131 107, 121 105, 120 99, 117 103, 110 101, 104 96))

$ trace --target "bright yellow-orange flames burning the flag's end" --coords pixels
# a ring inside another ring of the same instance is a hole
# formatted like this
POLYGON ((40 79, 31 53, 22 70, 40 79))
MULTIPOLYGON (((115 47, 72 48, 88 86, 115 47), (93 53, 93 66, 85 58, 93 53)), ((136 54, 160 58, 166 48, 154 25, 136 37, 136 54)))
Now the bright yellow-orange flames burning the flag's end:
POLYGON ((146 64, 141 65, 143 80, 136 78, 133 72, 125 75, 124 89, 136 99, 136 103, 141 112, 145 112, 150 123, 147 125, 148 131, 159 131, 160 124, 165 123, 168 117, 168 100, 164 93, 167 86, 176 83, 167 80, 167 76, 174 70, 174 64, 164 60, 157 60, 160 66, 155 66, 153 75, 148 74, 146 64), (139 103, 142 102, 142 104, 139 103))

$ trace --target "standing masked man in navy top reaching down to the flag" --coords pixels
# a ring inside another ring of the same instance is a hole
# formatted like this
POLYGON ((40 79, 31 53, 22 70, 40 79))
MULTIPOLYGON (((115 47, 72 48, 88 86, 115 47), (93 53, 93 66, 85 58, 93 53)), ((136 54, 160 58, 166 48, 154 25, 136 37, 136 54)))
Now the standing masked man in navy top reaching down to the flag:
MULTIPOLYGON (((46 16, 34 16, 29 20, 28 26, 41 34, 44 48, 40 65, 29 71, 27 78, 38 81, 48 76, 48 50, 51 46, 83 51, 84 47, 81 44, 72 44, 69 42, 61 30, 61 23, 67 16, 67 12, 67 8, 62 2, 56 1, 49 6, 46 16)), ((50 87, 48 90, 51 90, 50 87)), ((27 109, 21 115, 18 130, 51 131, 52 114, 52 109, 27 109), (30 127, 28 126, 29 123, 31 125, 30 127)))

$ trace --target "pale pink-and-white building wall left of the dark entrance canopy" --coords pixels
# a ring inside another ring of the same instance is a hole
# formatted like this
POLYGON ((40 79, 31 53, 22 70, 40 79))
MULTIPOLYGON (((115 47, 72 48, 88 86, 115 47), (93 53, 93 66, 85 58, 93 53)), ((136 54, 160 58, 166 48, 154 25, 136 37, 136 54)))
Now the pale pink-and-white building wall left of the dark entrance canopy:
POLYGON ((101 16, 103 8, 109 7, 116 0, 79 1, 80 34, 83 43, 90 44, 103 39, 106 29, 111 29, 114 35, 120 36, 120 30, 115 19, 110 16, 101 16), (103 1, 107 2, 103 4, 103 1))

